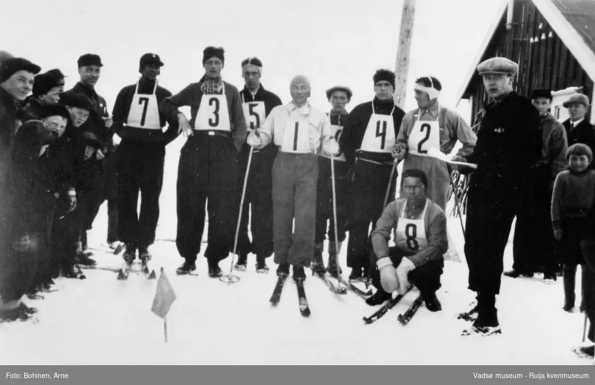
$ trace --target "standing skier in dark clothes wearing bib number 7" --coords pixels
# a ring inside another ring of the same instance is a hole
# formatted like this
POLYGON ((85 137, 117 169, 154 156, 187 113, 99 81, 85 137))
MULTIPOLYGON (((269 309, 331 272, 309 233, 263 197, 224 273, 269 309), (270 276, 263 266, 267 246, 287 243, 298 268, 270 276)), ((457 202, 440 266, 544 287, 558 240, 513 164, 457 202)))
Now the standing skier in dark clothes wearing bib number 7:
POLYGON ((118 146, 118 235, 126 245, 124 260, 151 259, 149 245, 155 241, 159 219, 159 195, 163 185, 165 146, 177 137, 177 120, 163 132, 167 116, 159 103, 171 92, 157 84, 163 66, 159 55, 140 58, 141 75, 136 84, 124 87, 114 103, 114 130, 118 146), (142 195, 137 213, 139 191, 142 195))

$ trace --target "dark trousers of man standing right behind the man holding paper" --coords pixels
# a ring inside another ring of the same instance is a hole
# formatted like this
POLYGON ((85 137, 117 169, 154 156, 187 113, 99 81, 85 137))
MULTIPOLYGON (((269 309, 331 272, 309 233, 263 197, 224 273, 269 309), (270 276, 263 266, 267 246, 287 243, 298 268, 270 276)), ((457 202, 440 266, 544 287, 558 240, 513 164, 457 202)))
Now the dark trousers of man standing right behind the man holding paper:
POLYGON ((543 266, 544 276, 558 272, 556 239, 552 231, 552 190, 549 167, 531 170, 527 190, 516 215, 512 247, 514 270, 534 273, 543 266))

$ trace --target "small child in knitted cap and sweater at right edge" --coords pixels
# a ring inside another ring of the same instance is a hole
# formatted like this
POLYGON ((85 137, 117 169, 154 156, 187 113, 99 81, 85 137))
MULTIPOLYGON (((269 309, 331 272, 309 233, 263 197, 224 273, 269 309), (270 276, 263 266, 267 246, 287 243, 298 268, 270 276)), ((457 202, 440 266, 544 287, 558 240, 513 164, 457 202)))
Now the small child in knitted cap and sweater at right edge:
POLYGON ((577 265, 585 263, 580 242, 595 198, 595 170, 588 169, 593 152, 585 144, 573 144, 566 152, 566 159, 569 170, 560 172, 554 183, 552 226, 564 263, 563 310, 571 312, 577 265))

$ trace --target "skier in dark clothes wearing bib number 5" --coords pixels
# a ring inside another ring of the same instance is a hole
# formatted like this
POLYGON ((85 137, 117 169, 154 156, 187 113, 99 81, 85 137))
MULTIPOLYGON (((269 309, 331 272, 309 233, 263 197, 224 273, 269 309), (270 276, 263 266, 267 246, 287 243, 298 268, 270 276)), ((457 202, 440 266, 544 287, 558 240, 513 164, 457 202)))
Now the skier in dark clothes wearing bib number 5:
MULTIPOLYGON (((281 99, 274 93, 262 87, 262 62, 258 58, 248 58, 242 61, 242 76, 245 87, 240 92, 242 109, 246 118, 249 132, 259 130, 273 111, 282 105, 281 99)), ((239 154, 239 191, 242 191, 248 166, 250 146, 244 144, 239 154)), ((256 272, 268 273, 266 258, 273 255, 273 161, 277 155, 277 146, 273 143, 262 150, 253 150, 250 170, 248 171, 248 185, 242 210, 242 222, 237 239, 237 253, 239 255, 236 270, 246 270, 248 254, 256 254, 256 272), (248 238, 248 208, 252 206, 250 215, 250 231, 252 243, 248 238)), ((240 194, 238 194, 240 196, 240 194)), ((239 201, 237 203, 239 209, 239 201)))

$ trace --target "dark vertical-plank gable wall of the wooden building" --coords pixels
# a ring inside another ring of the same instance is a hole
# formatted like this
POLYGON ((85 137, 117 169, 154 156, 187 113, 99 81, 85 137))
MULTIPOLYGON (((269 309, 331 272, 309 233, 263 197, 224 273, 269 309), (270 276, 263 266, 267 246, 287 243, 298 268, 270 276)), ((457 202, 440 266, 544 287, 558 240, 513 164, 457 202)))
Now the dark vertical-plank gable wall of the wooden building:
MULTIPOLYGON (((568 51, 533 2, 515 1, 513 23, 515 24, 512 29, 506 30, 505 12, 481 61, 494 56, 504 56, 516 62, 519 65, 519 73, 514 87, 521 95, 528 96, 531 90, 536 88, 550 88, 556 91, 582 86, 583 93, 591 99, 593 80, 585 74, 577 59, 568 51)), ((477 72, 473 75, 465 94, 473 97, 473 125, 486 98, 483 81, 477 72)))

